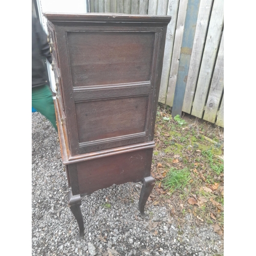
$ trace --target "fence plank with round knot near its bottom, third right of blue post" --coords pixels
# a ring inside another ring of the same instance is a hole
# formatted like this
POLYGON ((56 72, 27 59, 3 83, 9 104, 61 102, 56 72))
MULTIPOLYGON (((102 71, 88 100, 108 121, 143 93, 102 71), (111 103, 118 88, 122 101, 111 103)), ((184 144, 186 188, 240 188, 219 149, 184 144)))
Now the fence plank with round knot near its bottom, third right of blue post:
POLYGON ((216 120, 217 111, 220 105, 221 96, 224 88, 224 33, 221 38, 221 45, 218 52, 218 57, 212 76, 210 91, 207 98, 203 119, 214 123, 216 120))

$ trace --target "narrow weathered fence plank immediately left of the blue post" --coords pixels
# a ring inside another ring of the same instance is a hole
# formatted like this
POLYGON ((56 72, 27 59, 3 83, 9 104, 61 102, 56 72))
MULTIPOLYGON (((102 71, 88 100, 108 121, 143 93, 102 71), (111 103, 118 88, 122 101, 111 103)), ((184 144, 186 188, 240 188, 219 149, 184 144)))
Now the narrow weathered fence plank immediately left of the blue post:
POLYGON ((167 96, 166 96, 166 102, 165 102, 165 104, 169 106, 173 106, 182 37, 184 32, 184 23, 185 23, 186 12, 187 12, 187 2, 188 0, 180 0, 180 3, 179 3, 179 12, 178 12, 175 39, 174 39, 173 56, 172 56, 172 63, 170 66, 169 83, 168 83, 168 90, 167 90, 167 96))

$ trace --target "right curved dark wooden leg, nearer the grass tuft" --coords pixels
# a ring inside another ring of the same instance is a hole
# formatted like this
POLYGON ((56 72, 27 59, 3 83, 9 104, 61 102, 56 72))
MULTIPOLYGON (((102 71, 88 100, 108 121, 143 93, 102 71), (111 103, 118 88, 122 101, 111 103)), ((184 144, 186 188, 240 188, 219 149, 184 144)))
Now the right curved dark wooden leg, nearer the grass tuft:
POLYGON ((148 197, 151 194, 152 189, 155 186, 156 181, 154 178, 150 176, 150 177, 144 178, 142 183, 143 185, 141 188, 140 199, 139 199, 139 211, 140 211, 140 216, 144 218, 146 216, 144 213, 145 204, 148 197))

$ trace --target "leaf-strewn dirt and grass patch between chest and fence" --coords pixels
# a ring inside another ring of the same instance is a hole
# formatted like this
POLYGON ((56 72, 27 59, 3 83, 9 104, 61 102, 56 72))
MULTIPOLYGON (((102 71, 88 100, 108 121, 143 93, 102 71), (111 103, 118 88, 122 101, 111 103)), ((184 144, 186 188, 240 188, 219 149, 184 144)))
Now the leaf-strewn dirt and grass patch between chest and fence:
POLYGON ((172 118, 158 106, 152 176, 148 199, 169 207, 170 216, 224 232, 224 129, 188 114, 172 118))

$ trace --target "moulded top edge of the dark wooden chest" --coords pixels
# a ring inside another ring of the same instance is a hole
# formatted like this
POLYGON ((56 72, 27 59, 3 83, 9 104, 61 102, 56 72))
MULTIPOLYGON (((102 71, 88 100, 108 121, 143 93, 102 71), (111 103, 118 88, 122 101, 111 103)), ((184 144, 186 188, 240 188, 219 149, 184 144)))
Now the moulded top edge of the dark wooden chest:
POLYGON ((166 23, 171 16, 166 15, 142 15, 123 13, 56 13, 46 12, 44 16, 50 22, 125 22, 125 23, 166 23))

